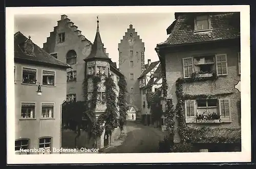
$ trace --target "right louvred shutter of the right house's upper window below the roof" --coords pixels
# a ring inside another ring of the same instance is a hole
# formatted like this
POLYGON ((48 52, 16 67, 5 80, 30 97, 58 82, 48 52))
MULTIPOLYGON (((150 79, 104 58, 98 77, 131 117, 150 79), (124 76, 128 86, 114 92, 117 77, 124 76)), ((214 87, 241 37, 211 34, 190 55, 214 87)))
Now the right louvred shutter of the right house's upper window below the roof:
POLYGON ((217 76, 227 75, 227 55, 216 55, 216 70, 217 76))

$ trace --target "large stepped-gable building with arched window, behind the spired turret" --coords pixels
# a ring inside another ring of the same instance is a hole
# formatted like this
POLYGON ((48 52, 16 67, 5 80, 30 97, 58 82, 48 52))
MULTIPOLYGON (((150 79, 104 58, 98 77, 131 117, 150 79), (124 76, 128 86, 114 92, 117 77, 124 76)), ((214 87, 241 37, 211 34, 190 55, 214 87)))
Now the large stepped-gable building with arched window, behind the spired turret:
POLYGON ((67 101, 84 101, 82 84, 85 64, 83 59, 91 53, 92 42, 81 34, 67 15, 61 15, 57 26, 47 37, 43 49, 71 66, 67 69, 66 75, 67 101))

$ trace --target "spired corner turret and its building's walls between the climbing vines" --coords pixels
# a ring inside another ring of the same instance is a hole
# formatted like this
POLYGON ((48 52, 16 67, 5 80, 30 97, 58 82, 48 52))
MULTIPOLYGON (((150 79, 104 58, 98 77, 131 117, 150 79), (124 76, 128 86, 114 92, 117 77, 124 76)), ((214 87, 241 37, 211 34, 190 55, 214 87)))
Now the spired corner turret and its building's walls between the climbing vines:
MULTIPOLYGON (((113 89, 116 94, 116 105, 118 102, 118 94, 119 94, 119 86, 118 81, 120 76, 123 76, 120 71, 116 68, 116 64, 111 61, 109 55, 105 53, 103 43, 101 41, 100 33, 99 33, 99 20, 97 20, 97 31, 95 35, 95 40, 92 45, 92 51, 90 55, 84 59, 86 64, 86 76, 100 76, 101 81, 98 84, 97 90, 97 103, 96 107, 93 110, 95 116, 91 116, 91 120, 96 122, 98 117, 105 113, 107 108, 106 100, 108 96, 106 95, 106 86, 104 85, 105 76, 111 76, 112 80, 114 81, 115 88, 113 89)), ((94 92, 94 84, 92 78, 87 78, 88 80, 88 100, 93 99, 93 92, 94 92)), ((101 136, 96 141, 97 148, 103 148, 109 146, 110 142, 117 139, 120 134, 120 129, 118 127, 118 119, 119 119, 119 107, 117 105, 117 120, 115 122, 116 127, 113 133, 105 132, 103 130, 101 136)), ((104 123, 103 123, 104 126, 104 123)))

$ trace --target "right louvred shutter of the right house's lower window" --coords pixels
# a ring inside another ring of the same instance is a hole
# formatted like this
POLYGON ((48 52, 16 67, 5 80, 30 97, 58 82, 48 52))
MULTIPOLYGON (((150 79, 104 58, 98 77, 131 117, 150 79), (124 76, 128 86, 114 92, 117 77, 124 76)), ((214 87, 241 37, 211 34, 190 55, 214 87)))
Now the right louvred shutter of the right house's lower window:
POLYGON ((231 122, 230 100, 219 99, 221 122, 231 122))

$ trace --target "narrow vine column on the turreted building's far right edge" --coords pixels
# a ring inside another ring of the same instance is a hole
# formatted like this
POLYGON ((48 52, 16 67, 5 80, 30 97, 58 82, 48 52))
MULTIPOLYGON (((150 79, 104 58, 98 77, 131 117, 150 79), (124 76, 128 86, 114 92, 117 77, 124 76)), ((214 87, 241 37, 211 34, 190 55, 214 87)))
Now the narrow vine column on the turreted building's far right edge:
POLYGON ((118 87, 119 87, 119 93, 118 93, 118 106, 119 106, 119 125, 120 129, 123 130, 123 126, 126 124, 126 80, 124 76, 119 77, 118 81, 118 87))

